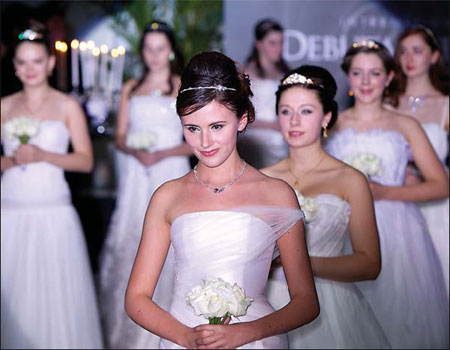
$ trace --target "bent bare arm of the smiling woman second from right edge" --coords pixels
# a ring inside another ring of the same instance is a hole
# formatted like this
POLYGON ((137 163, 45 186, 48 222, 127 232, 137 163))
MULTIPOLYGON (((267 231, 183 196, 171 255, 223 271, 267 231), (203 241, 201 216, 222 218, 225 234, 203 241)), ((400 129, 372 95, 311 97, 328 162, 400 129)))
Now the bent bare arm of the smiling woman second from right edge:
POLYGON ((407 186, 382 186, 371 183, 374 198, 412 202, 447 198, 448 175, 422 127, 412 118, 408 118, 402 123, 402 130, 409 141, 414 162, 420 170, 423 182, 407 186))

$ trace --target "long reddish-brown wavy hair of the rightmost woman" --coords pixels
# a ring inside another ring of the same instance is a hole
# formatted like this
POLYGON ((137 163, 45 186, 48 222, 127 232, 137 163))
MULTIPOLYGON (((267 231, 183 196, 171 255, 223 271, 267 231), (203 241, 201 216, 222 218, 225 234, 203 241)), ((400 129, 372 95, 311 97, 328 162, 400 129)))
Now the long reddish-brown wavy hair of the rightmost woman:
POLYGON ((405 29, 397 39, 397 45, 395 48, 395 56, 394 56, 396 64, 396 72, 392 84, 392 91, 390 92, 388 100, 388 102, 392 104, 394 107, 398 106, 399 98, 402 94, 405 93, 407 84, 407 77, 400 65, 400 45, 405 38, 411 35, 420 35, 423 41, 430 47, 432 53, 436 51, 439 52, 439 58, 436 61, 436 63, 430 66, 428 74, 430 77, 431 84, 436 90, 442 92, 444 95, 449 94, 449 82, 448 82, 449 76, 439 42, 437 41, 434 33, 429 28, 420 24, 405 29))

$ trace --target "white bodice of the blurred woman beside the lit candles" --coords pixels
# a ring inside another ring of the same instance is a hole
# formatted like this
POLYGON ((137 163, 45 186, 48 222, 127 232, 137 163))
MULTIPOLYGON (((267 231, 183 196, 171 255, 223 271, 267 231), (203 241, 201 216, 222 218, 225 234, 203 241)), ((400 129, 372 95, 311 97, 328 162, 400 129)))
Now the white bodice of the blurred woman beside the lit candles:
POLYGON ((128 133, 152 132, 154 150, 172 148, 183 140, 183 129, 175 110, 175 98, 138 95, 131 97, 128 133))

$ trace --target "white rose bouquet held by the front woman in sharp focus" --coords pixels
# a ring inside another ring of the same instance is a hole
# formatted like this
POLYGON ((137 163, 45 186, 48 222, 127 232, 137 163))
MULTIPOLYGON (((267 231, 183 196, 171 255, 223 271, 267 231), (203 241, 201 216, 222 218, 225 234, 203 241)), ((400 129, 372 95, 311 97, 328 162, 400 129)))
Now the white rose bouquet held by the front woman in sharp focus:
POLYGON ((209 324, 224 324, 228 317, 245 315, 253 301, 236 283, 231 285, 221 278, 195 286, 186 293, 186 300, 195 314, 203 315, 209 324))

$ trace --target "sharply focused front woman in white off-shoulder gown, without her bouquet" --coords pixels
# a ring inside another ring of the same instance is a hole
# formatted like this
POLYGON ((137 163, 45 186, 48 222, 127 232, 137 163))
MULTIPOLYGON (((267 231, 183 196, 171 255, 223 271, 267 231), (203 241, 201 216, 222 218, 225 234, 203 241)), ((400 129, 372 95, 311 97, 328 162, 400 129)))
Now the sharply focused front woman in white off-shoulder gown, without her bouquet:
POLYGON ((217 52, 194 56, 183 72, 177 111, 199 163, 155 192, 125 300, 130 317, 163 338, 160 348, 285 348, 283 333, 318 314, 294 191, 246 165, 236 150, 238 132, 254 119, 250 93, 248 78, 217 52), (291 295, 276 312, 264 297, 275 243, 291 295), (176 280, 166 312, 152 296, 171 244, 176 280), (186 303, 191 288, 215 278, 253 298, 230 324, 207 325, 186 303))

